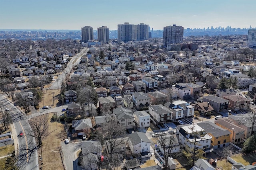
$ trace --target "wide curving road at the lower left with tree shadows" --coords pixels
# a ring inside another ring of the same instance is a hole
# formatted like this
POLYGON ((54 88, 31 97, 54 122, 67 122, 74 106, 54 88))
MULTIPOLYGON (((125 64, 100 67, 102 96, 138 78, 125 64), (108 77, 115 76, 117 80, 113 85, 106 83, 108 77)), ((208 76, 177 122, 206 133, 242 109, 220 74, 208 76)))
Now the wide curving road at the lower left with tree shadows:
POLYGON ((10 109, 14 126, 12 131, 15 131, 13 134, 19 135, 20 131, 24 132, 23 137, 14 138, 18 139, 14 141, 15 145, 18 144, 18 166, 22 170, 39 170, 36 141, 26 134, 27 131, 31 131, 31 127, 26 120, 26 115, 18 107, 15 107, 11 100, 6 98, 6 95, 0 94, 0 101, 2 106, 10 109))

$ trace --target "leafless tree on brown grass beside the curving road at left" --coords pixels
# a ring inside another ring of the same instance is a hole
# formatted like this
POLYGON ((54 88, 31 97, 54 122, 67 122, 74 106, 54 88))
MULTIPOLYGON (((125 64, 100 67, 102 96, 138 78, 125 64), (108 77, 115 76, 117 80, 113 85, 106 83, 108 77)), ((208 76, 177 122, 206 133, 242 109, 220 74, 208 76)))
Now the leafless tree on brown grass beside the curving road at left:
POLYGON ((36 138, 38 146, 42 145, 42 138, 48 135, 48 115, 40 115, 29 121, 32 131, 29 132, 31 137, 36 138))

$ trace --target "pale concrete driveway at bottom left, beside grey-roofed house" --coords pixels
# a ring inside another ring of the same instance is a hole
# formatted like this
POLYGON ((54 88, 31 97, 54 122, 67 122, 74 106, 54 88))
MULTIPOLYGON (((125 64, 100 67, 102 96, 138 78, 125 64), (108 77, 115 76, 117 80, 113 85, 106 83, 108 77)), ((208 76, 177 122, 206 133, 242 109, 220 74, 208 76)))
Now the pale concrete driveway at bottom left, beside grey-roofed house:
POLYGON ((61 143, 64 165, 66 170, 82 170, 82 167, 77 165, 76 151, 81 149, 81 142, 65 144, 61 143))

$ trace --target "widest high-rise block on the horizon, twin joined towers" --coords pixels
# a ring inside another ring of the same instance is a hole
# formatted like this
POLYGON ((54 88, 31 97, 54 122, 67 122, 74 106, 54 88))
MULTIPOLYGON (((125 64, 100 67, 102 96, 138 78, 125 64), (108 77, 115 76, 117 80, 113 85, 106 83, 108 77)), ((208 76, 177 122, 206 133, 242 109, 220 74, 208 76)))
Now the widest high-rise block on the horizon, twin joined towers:
POLYGON ((118 39, 122 41, 135 41, 148 39, 148 25, 140 23, 138 25, 124 24, 117 25, 118 39))

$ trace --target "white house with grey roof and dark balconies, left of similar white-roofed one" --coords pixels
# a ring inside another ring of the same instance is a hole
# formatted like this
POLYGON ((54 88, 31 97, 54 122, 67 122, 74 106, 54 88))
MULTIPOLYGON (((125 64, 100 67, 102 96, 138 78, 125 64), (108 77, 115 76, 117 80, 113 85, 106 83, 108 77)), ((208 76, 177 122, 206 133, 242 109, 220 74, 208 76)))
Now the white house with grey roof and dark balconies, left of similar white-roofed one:
POLYGON ((172 111, 162 104, 148 106, 148 110, 155 125, 173 121, 172 111))

